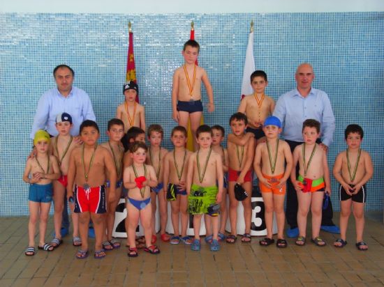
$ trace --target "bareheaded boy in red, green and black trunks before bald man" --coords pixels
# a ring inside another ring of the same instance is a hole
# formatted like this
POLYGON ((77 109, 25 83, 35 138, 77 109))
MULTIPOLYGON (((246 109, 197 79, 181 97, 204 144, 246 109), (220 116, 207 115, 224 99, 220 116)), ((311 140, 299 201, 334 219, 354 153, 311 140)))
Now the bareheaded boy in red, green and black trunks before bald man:
POLYGON ((307 228, 307 215, 309 208, 312 214, 312 239, 319 246, 326 245, 320 238, 321 213, 323 208, 324 193, 331 194, 330 169, 327 164, 327 152, 319 148, 316 139, 320 136, 320 123, 313 119, 304 121, 302 134, 304 143, 293 151, 293 166, 300 164, 299 175, 292 169, 290 180, 297 192, 299 208, 297 211, 297 225, 299 237, 296 245, 305 245, 307 228))

